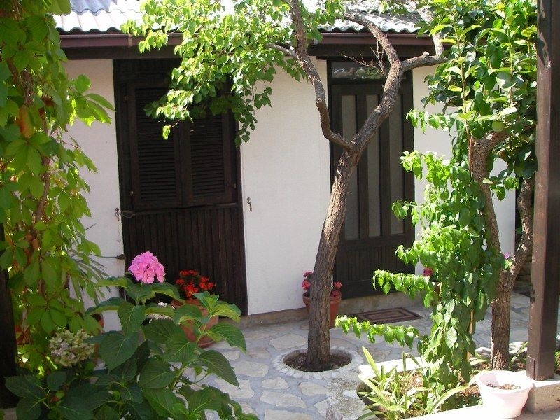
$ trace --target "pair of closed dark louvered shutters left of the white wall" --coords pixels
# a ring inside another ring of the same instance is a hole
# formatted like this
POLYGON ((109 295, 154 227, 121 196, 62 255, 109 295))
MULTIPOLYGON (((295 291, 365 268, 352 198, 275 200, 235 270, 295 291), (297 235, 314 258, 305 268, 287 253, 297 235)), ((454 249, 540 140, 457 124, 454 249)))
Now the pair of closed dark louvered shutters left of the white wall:
POLYGON ((167 87, 130 85, 132 203, 134 210, 177 209, 234 201, 231 114, 179 123, 165 140, 165 120, 144 108, 167 87))

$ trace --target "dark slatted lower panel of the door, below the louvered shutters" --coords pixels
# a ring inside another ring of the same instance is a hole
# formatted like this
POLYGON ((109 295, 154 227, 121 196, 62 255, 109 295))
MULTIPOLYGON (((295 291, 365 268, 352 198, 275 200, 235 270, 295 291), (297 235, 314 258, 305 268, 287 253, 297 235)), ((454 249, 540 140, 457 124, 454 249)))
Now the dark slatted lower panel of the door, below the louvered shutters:
MULTIPOLYGON (((181 269, 197 269, 216 283, 216 293, 226 302, 246 307, 246 293, 239 287, 244 275, 239 244, 239 214, 235 205, 167 211, 141 211, 123 219, 131 254, 151 251, 173 282, 181 269)), ((128 255, 127 255, 128 256, 128 255)))

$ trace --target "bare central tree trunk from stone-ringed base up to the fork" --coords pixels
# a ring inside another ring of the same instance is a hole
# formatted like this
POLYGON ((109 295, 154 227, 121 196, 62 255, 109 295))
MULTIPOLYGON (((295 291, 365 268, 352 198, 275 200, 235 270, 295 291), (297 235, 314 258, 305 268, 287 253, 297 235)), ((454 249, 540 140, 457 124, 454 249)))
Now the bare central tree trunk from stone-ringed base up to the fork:
POLYGON ((344 151, 332 183, 327 216, 317 250, 309 307, 309 333, 305 367, 314 372, 330 369, 329 295, 332 269, 346 215, 346 193, 350 176, 360 159, 359 151, 344 151))

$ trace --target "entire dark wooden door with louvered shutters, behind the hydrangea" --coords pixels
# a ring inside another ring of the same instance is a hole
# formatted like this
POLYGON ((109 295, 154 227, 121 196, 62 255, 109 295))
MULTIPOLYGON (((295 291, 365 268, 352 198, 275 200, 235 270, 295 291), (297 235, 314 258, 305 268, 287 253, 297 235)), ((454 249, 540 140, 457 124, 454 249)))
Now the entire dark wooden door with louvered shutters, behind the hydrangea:
POLYGON ((239 154, 230 113, 179 123, 162 138, 163 120, 146 105, 167 92, 173 60, 115 63, 121 214, 127 266, 151 251, 174 282, 196 269, 221 299, 246 313, 239 154))

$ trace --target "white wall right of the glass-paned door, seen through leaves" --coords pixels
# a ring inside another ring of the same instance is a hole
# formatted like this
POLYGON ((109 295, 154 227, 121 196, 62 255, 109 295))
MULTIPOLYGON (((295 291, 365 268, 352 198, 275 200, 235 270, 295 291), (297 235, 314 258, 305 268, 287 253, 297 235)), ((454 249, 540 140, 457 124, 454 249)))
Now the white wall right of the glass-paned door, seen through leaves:
MULTIPOLYGON (((424 78, 433 73, 433 67, 424 67, 413 71, 412 83, 414 85, 414 108, 423 109, 422 99, 428 95, 428 85, 424 83, 424 78)), ((437 108, 433 105, 426 107, 428 112, 436 112, 437 108)), ((437 152, 439 155, 451 156, 451 136, 443 130, 428 128, 425 133, 420 129, 414 130, 414 148, 417 151, 437 152)), ((505 168, 503 161, 498 162, 494 168, 496 174, 505 168)), ((418 181, 414 183, 414 195, 416 202, 423 202, 424 189, 426 182, 418 181)), ((504 200, 494 199, 496 215, 498 216, 498 228, 500 230, 500 245, 503 253, 512 254, 515 246, 515 194, 510 191, 504 200)), ((416 228, 416 234, 418 228, 416 228)), ((416 267, 416 272, 421 274, 422 267, 416 267)))

